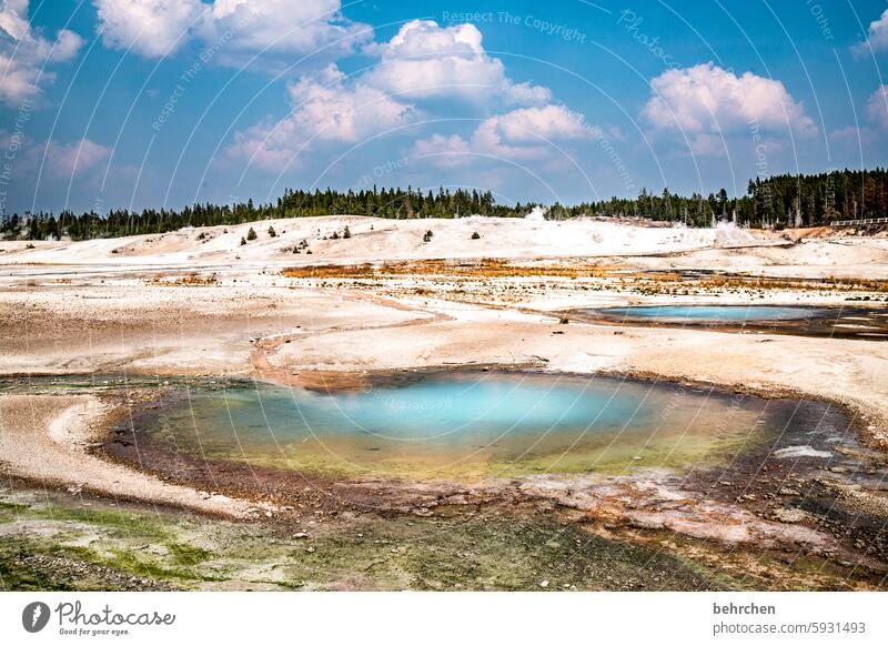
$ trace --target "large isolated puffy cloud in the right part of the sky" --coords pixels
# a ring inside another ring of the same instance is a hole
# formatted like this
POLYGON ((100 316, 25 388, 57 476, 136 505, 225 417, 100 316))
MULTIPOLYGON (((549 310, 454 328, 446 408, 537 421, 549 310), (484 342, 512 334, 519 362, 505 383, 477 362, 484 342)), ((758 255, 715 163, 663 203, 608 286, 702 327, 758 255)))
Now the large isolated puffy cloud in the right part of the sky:
POLYGON ((712 149, 722 134, 756 128, 791 130, 800 137, 817 133, 805 107, 780 81, 745 72, 737 77, 712 62, 667 70, 650 81, 652 97, 644 117, 659 130, 680 131, 712 149))

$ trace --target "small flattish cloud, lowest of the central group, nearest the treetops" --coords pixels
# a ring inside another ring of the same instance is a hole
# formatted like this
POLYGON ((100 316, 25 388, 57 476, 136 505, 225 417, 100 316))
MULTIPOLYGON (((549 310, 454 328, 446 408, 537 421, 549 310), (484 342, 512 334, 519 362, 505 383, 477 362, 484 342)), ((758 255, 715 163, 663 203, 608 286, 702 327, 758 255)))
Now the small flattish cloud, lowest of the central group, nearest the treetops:
POLYGON ((551 157, 554 143, 593 138, 598 132, 583 114, 563 105, 523 108, 485 119, 468 141, 441 134, 420 140, 413 154, 434 158, 443 166, 465 163, 468 155, 541 161, 551 157))

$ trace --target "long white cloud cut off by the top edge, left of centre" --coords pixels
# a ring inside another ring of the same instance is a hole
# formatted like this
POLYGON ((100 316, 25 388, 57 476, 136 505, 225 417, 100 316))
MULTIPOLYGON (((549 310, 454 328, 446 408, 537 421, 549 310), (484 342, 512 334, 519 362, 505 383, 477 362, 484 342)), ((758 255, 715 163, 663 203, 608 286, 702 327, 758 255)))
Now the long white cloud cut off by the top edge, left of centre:
POLYGON ((174 52, 196 39, 219 50, 220 61, 241 64, 264 52, 325 57, 351 51, 372 36, 345 20, 341 0, 93 0, 108 47, 147 58, 174 52))

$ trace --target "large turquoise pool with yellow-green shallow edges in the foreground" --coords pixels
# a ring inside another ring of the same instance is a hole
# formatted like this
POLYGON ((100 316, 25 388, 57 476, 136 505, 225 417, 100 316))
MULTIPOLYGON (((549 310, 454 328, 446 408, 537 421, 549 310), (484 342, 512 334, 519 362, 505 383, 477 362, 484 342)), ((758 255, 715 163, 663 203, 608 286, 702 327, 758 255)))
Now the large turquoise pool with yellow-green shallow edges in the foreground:
POLYGON ((162 402, 144 433, 198 458, 475 480, 708 464, 767 432, 809 425, 818 406, 609 377, 471 373, 345 393, 192 390, 162 402))

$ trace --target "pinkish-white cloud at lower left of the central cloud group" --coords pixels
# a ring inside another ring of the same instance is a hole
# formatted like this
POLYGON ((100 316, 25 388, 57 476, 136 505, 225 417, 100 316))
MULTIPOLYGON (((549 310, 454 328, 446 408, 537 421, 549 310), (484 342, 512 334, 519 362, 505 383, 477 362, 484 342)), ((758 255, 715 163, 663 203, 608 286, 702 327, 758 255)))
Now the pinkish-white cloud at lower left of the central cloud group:
POLYGON ((330 65, 289 88, 292 112, 273 123, 239 132, 229 157, 264 170, 281 170, 301 152, 324 142, 356 143, 410 122, 415 109, 363 83, 347 85, 330 65))

